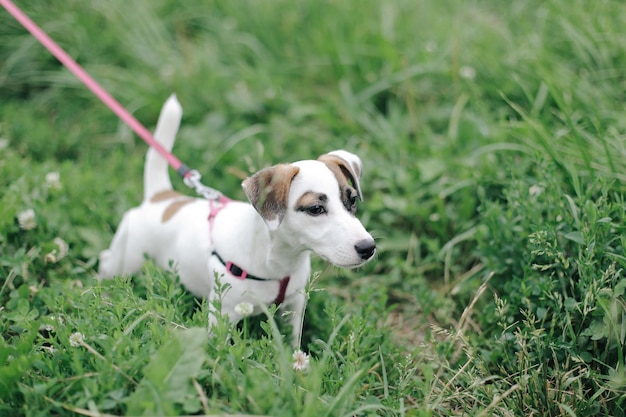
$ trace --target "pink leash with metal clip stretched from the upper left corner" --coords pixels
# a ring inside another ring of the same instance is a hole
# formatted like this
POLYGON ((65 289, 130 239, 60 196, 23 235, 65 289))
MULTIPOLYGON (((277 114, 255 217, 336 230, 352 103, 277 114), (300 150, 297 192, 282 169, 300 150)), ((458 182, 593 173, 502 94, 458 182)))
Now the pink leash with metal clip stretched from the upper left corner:
POLYGON ((54 55, 68 70, 70 70, 87 88, 89 88, 104 104, 106 104, 120 119, 124 121, 140 138, 152 146, 167 162, 184 178, 188 187, 195 188, 196 192, 207 199, 215 199, 220 193, 202 185, 200 174, 187 167, 178 158, 166 151, 152 134, 132 114, 130 114, 117 100, 115 100, 96 80, 80 66, 67 52, 54 42, 35 22, 22 12, 10 0, 0 0, 0 4, 24 26, 52 55, 54 55))

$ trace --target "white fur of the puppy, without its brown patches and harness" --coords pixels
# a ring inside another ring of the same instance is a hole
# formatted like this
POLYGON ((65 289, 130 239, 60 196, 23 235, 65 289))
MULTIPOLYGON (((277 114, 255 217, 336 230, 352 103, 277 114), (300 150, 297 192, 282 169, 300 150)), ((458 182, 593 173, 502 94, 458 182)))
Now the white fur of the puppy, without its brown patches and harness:
MULTIPOLYGON (((163 106, 155 132, 155 138, 167 150, 174 144, 181 116, 176 97, 170 97, 163 106)), ((357 164, 360 176, 358 157, 346 151, 334 154, 357 164)), ((207 220, 210 204, 204 199, 194 199, 163 222, 163 212, 172 200, 151 202, 151 198, 158 192, 171 190, 172 185, 166 162, 154 150, 149 150, 144 172, 144 201, 124 215, 110 248, 100 254, 99 277, 137 272, 147 255, 166 268, 174 261, 182 284, 196 296, 213 301, 216 296, 214 276, 218 274, 222 283, 230 285, 222 295, 222 313, 236 323, 242 318, 235 310, 237 304, 271 304, 278 294, 279 281, 289 276, 281 307, 293 312, 292 342, 298 345, 311 253, 334 265, 352 268, 371 259, 374 241, 354 214, 344 207, 338 181, 326 164, 306 160, 292 165, 299 171, 291 181, 282 218, 263 219, 253 205, 231 202, 216 216, 211 237, 207 220), (327 196, 325 214, 312 216, 296 209, 298 199, 308 192, 327 196), (355 250, 357 242, 366 242, 366 246, 371 242, 372 252, 367 259, 355 250), (274 281, 241 280, 231 276, 211 255, 214 250, 222 259, 234 262, 250 274, 274 281)), ((211 308, 213 304, 210 303, 211 308)), ((258 312, 255 308, 255 313, 258 312)), ((210 323, 215 322, 215 313, 212 312, 210 323)))

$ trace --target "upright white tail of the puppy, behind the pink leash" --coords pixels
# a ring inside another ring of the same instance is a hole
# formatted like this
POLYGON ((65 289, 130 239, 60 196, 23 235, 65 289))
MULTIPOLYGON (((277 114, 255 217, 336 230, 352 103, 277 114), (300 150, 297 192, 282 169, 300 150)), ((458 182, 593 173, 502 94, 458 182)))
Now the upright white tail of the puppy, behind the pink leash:
MULTIPOLYGON (((176 132, 180 126, 183 109, 172 94, 161 109, 154 138, 168 152, 172 150, 176 140, 176 132)), ((148 200, 160 191, 172 189, 172 182, 167 170, 167 161, 159 153, 150 148, 146 155, 146 165, 143 172, 143 198, 148 200)))

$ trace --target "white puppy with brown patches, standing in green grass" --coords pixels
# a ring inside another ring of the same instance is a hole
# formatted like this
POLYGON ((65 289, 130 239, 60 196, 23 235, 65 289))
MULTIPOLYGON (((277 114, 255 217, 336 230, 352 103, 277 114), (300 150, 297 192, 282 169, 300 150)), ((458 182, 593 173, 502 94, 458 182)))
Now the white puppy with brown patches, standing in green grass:
MULTIPOLYGON (((155 139, 170 151, 182 118, 172 95, 163 105, 155 139)), ((138 272, 146 256, 173 265, 195 296, 208 297, 209 333, 215 305, 237 323, 253 306, 280 304, 290 312, 292 345, 299 346, 311 254, 338 267, 355 268, 372 259, 376 243, 356 218, 362 200, 361 160, 338 150, 263 169, 243 181, 249 203, 191 198, 172 188, 166 160, 146 155, 144 198, 123 216, 108 249, 99 256, 98 277, 138 272), (173 264, 172 264, 173 262, 173 264), (215 290, 216 277, 229 288, 215 290)))

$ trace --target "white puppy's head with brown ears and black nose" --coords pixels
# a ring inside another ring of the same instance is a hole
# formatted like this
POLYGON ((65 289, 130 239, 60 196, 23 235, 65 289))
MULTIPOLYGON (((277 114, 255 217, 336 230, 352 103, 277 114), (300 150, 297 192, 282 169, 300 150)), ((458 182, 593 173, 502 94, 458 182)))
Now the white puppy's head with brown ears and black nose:
POLYGON ((356 218, 361 160, 333 151, 318 160, 280 164, 243 182, 246 196, 268 228, 295 248, 311 250, 342 267, 356 267, 376 252, 356 218))

